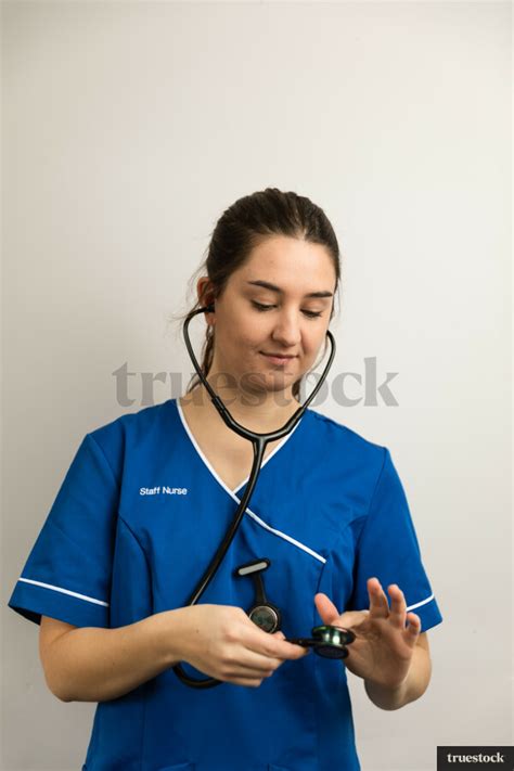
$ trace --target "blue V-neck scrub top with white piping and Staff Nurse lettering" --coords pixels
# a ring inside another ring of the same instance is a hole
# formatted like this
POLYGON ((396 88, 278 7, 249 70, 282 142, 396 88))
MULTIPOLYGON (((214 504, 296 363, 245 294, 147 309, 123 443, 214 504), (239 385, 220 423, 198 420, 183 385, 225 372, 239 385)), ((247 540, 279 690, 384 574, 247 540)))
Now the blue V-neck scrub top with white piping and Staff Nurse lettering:
MULTIPOLYGON (((249 471, 249 470, 248 470, 249 471)), ((231 490, 169 399, 87 434, 9 606, 77 627, 117 628, 182 607, 233 518, 231 490)), ((314 594, 369 607, 367 579, 398 583, 422 631, 440 624, 406 494, 387 448, 307 410, 266 459, 250 507, 202 603, 248 609, 268 557, 269 602, 287 638, 321 624, 314 594)), ((189 664, 184 669, 205 677, 189 664)), ((360 769, 346 669, 314 654, 257 688, 184 685, 171 669, 97 706, 88 771, 360 769)))

